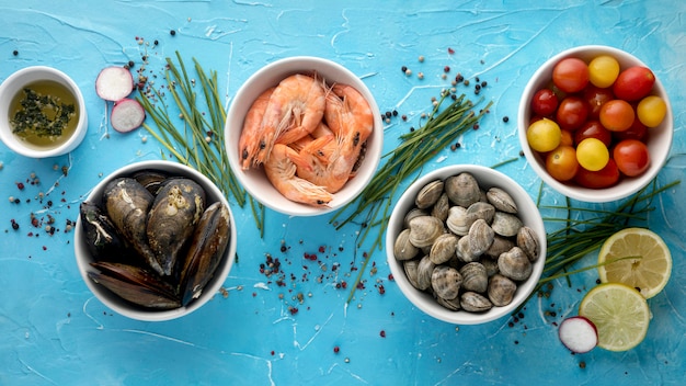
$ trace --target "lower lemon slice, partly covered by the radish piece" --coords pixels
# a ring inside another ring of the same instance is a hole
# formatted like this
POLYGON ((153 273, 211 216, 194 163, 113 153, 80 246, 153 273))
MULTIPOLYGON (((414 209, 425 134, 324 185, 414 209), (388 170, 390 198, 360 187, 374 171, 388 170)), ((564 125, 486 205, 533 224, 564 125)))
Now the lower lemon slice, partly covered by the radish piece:
POLYGON ((598 331, 598 347, 627 351, 637 347, 648 332, 650 308, 636 290, 620 283, 598 284, 581 300, 579 315, 598 331))

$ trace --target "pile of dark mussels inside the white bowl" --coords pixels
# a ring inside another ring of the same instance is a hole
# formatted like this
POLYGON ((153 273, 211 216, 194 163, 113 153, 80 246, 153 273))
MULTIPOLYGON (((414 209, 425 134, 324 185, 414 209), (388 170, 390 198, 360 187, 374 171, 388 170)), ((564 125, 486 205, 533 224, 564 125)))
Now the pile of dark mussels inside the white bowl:
POLYGON ((230 213, 220 202, 204 209, 206 193, 193 180, 153 178, 157 188, 148 191, 138 182, 148 175, 156 173, 107 183, 102 207, 98 200, 80 205, 84 240, 96 270, 88 275, 135 305, 178 308, 199 296, 224 259, 230 213))

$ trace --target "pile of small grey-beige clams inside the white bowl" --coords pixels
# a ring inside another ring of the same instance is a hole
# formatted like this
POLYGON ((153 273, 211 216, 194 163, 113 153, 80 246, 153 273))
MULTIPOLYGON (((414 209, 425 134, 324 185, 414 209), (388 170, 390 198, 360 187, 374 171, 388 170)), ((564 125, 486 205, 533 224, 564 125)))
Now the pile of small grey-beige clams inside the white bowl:
POLYGON ((393 249, 410 283, 454 311, 481 313, 512 303, 518 284, 531 275, 540 241, 518 217, 510 194, 483 190, 473 175, 460 173, 428 182, 414 198, 393 249), (412 253, 408 245, 415 248, 412 253), (446 297, 454 295, 446 295, 446 277, 454 277, 449 270, 460 275, 454 298, 446 297))

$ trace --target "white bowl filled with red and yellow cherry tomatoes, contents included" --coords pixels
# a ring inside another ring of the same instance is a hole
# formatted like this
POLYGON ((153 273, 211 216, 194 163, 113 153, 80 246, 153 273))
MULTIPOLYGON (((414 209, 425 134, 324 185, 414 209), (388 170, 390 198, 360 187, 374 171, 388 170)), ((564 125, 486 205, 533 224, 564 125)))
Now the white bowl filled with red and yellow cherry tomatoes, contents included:
POLYGON ((526 84, 518 136, 534 171, 556 191, 610 202, 664 166, 674 121, 666 91, 640 59, 608 46, 554 55, 526 84))

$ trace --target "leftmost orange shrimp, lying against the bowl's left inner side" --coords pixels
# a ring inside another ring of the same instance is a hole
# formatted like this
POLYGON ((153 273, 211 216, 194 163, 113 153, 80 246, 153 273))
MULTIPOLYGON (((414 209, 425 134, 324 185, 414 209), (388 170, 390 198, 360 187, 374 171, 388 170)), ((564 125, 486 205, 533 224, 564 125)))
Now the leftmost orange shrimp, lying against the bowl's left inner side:
POLYGON ((240 163, 243 170, 250 169, 251 166, 258 166, 258 151, 266 146, 262 139, 262 118, 270 102, 270 96, 275 88, 270 88, 262 92, 245 114, 243 129, 238 140, 238 154, 240 155, 240 163))

